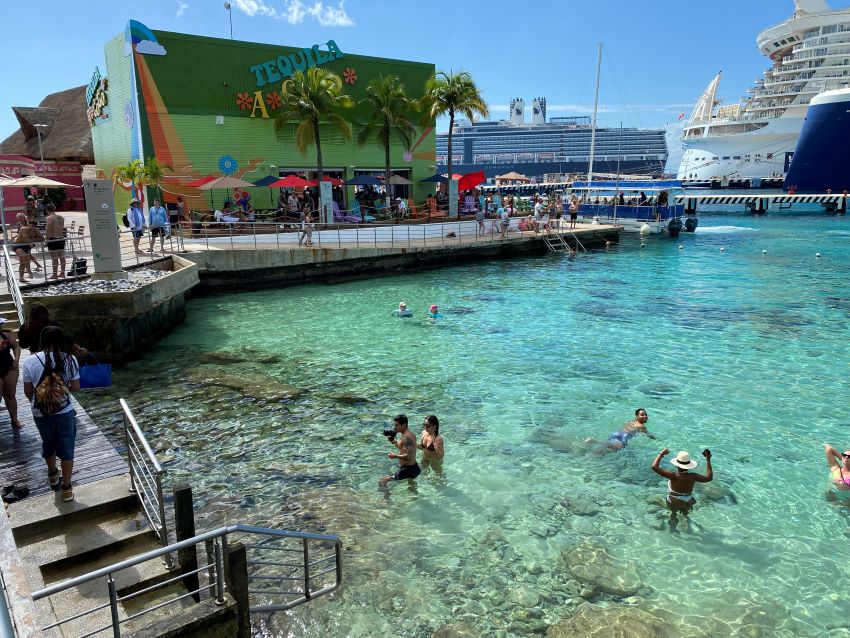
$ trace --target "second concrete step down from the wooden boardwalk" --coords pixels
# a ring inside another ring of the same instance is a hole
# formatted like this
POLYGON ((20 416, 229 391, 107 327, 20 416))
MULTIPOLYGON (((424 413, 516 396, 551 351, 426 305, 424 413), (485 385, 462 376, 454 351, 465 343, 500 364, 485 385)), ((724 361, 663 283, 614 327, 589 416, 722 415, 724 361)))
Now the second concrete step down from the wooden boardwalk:
MULTIPOLYGON (((139 553, 139 547, 149 547, 150 539, 156 539, 150 524, 140 512, 104 512, 70 524, 60 529, 45 529, 28 538, 26 544, 18 544, 18 551, 25 561, 41 568, 47 580, 61 573, 70 577, 79 566, 85 573, 91 571, 89 563, 101 557, 112 557, 122 548, 139 553)), ((114 561, 112 561, 114 562, 114 561)))

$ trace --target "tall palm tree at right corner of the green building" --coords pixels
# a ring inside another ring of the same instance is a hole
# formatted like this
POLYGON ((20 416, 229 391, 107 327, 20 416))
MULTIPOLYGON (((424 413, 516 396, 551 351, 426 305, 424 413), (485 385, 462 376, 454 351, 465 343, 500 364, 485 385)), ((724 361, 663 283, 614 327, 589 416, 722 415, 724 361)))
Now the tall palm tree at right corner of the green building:
MULTIPOLYGON (((481 97, 481 92, 475 86, 472 76, 466 71, 452 73, 440 71, 425 82, 425 95, 422 96, 422 121, 430 124, 438 117, 449 116, 449 154, 447 164, 449 179, 452 178, 452 128, 455 114, 460 113, 471 122, 475 115, 489 117, 487 103, 481 97)), ((457 212, 460 218, 460 210, 457 212)))

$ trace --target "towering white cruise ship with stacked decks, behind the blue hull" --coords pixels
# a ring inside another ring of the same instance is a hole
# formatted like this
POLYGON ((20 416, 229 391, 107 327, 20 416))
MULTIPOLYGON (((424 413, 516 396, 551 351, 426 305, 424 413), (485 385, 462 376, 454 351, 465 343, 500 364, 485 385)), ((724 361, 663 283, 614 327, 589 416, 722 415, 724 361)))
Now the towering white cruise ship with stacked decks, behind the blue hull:
POLYGON ((709 83, 682 134, 678 178, 748 180, 784 176, 811 99, 850 86, 850 7, 795 0, 794 14, 756 38, 772 65, 740 102, 717 98, 709 83))

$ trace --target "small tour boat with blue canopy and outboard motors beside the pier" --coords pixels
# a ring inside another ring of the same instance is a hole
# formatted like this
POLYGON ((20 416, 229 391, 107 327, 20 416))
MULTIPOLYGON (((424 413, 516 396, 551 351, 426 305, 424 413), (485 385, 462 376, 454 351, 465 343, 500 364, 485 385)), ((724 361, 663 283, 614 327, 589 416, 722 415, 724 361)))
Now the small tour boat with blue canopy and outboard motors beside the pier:
POLYGON ((641 234, 667 233, 678 237, 683 229, 696 230, 696 217, 682 220, 684 204, 676 204, 682 192, 678 180, 630 180, 573 182, 563 195, 566 211, 570 200, 576 198, 578 215, 593 223, 616 224, 624 232, 641 234), (690 222, 690 229, 685 223, 690 222))

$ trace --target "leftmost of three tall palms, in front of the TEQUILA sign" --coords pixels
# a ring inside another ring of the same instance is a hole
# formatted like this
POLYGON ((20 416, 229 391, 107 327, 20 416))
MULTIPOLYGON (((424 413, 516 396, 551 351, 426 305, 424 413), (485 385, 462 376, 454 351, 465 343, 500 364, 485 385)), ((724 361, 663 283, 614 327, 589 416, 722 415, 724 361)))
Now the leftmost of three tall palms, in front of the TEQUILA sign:
POLYGON ((275 130, 280 131, 287 124, 297 122, 295 127, 295 148, 302 155, 307 148, 316 145, 316 168, 319 174, 318 184, 322 183, 322 139, 320 124, 331 124, 342 133, 347 142, 351 139, 351 125, 340 111, 354 105, 351 97, 342 92, 342 80, 338 75, 321 67, 296 71, 292 77, 283 81, 284 111, 275 118, 275 130))

